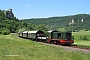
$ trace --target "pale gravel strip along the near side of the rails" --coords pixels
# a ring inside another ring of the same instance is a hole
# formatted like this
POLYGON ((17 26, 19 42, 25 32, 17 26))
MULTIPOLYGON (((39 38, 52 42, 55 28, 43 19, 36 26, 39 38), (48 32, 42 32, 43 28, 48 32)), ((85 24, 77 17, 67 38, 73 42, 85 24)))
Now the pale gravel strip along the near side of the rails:
POLYGON ((86 49, 74 48, 74 47, 69 47, 69 46, 54 45, 54 44, 48 44, 48 43, 42 43, 42 42, 39 42, 39 43, 45 44, 45 45, 50 45, 50 46, 60 47, 66 51, 80 51, 80 52, 83 52, 85 54, 90 54, 90 50, 86 50, 86 49))

